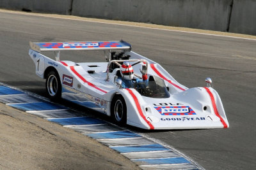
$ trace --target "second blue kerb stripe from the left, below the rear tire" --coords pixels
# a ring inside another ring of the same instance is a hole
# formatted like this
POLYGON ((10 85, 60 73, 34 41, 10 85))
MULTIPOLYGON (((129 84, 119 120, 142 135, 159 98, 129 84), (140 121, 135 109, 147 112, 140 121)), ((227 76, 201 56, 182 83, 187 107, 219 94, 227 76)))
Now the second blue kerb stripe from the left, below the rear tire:
POLYGON ((38 102, 38 103, 20 103, 20 104, 9 104, 13 108, 18 108, 24 111, 39 111, 39 110, 62 110, 67 109, 64 106, 59 106, 49 102, 38 102))

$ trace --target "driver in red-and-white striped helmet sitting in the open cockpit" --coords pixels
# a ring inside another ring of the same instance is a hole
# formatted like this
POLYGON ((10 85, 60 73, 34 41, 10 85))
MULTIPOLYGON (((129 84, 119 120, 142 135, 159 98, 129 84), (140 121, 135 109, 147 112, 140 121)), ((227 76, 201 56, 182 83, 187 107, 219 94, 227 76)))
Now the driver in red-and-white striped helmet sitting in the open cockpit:
POLYGON ((140 78, 133 79, 134 73, 133 73, 131 64, 127 61, 123 62, 122 66, 120 66, 120 73, 122 76, 122 88, 138 88, 142 84, 145 87, 147 87, 148 77, 147 77, 146 70, 147 70, 147 66, 145 65, 142 66, 142 70, 140 69, 140 72, 142 74, 142 80, 140 80, 140 78))

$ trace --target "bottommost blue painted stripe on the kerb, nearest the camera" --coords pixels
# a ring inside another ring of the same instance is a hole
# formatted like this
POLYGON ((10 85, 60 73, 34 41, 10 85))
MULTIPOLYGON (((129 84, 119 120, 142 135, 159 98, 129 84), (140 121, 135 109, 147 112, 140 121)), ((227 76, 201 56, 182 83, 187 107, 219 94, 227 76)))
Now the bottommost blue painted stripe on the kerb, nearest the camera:
POLYGON ((134 159, 133 162, 138 162, 140 165, 152 165, 152 164, 185 164, 190 163, 183 157, 173 158, 161 158, 161 159, 134 159))

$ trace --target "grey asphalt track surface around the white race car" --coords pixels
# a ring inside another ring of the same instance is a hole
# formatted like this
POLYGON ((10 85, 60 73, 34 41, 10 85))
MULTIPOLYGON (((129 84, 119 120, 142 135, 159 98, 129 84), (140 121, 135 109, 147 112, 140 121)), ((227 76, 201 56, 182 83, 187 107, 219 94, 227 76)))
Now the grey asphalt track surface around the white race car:
MULTIPOLYGON (((173 146, 205 169, 255 169, 256 41, 253 39, 0 11, 0 81, 45 96, 45 82, 36 76, 35 65, 28 56, 29 41, 118 39, 131 43, 134 52, 158 62, 187 87, 203 87, 205 78, 211 77, 230 124, 229 129, 210 130, 129 129, 173 146)), ((61 59, 100 62, 104 57, 102 52, 76 52, 72 56, 63 52, 61 59)))

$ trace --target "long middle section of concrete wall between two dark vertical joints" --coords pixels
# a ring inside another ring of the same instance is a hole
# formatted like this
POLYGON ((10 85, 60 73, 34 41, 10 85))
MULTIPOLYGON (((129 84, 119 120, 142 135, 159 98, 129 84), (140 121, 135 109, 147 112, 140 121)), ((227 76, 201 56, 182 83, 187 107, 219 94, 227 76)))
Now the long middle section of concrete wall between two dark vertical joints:
POLYGON ((232 0, 74 0, 72 15, 227 31, 232 0))

